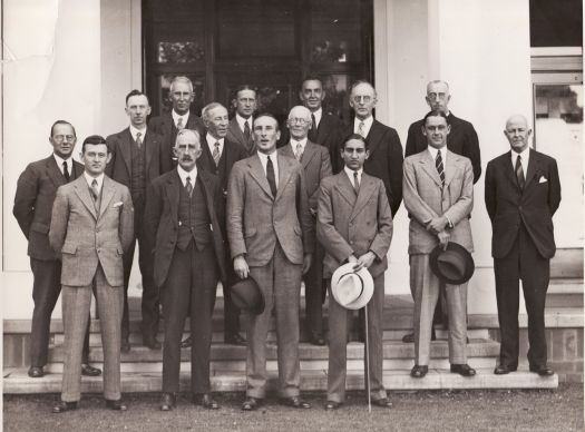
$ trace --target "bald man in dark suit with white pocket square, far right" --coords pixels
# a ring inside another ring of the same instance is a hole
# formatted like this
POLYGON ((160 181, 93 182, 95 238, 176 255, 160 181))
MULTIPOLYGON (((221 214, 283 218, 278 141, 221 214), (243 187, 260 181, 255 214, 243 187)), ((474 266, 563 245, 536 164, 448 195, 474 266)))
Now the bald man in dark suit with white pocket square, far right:
POLYGON ((501 345, 495 373, 518 367, 518 281, 528 312, 528 363, 532 372, 553 375, 547 365, 545 301, 555 255, 553 215, 560 204, 556 160, 529 148, 532 129, 524 116, 504 130, 511 151, 490 160, 486 170, 486 208, 491 219, 491 255, 501 345))

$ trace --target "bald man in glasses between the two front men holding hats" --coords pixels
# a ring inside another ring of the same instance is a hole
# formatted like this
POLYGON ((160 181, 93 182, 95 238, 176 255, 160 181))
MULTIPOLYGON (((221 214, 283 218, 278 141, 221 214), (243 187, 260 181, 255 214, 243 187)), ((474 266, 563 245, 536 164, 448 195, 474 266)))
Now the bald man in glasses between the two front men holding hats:
MULTIPOLYGON (((304 184, 309 196, 309 207, 314 223, 316 223, 316 204, 319 197, 319 184, 331 173, 331 159, 329 150, 311 143, 306 136, 311 129, 311 111, 305 107, 294 107, 289 112, 286 126, 290 130, 289 144, 279 149, 284 156, 294 157, 303 166, 304 184)), ((306 330, 309 342, 313 345, 324 345, 323 335, 323 257, 324 251, 315 245, 315 253, 311 268, 303 276, 304 298, 306 314, 306 330)))

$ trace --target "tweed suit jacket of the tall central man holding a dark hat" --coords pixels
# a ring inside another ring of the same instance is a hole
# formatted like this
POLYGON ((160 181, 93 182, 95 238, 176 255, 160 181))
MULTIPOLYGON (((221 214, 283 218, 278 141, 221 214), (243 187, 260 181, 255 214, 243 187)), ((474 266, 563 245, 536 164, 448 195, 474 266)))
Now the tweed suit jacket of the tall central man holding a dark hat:
POLYGON ((303 254, 314 251, 303 168, 295 159, 274 155, 279 164, 275 197, 257 154, 236 161, 230 174, 227 237, 232 258, 246 254, 253 267, 272 259, 276 240, 293 264, 303 264, 303 254))

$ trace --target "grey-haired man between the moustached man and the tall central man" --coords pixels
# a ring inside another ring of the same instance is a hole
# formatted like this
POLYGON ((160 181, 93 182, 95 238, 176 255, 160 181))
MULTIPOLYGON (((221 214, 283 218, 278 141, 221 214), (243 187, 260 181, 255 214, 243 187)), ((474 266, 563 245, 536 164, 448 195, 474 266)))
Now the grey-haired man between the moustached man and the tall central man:
MULTIPOLYGON (((227 109, 217 102, 212 102, 202 110, 203 122, 207 129, 205 140, 202 141, 202 155, 197 159, 198 166, 215 174, 220 180, 222 192, 222 206, 217 214, 222 230, 225 233, 225 206, 227 200, 227 179, 233 165, 247 157, 247 153, 241 145, 226 138, 227 134, 227 109)), ((228 251, 226 251, 228 252, 228 251)), ((224 342, 244 345, 245 338, 240 335, 240 311, 232 303, 230 286, 236 282, 230 255, 225 255, 227 267, 227 279, 222 281, 224 293, 224 342)))

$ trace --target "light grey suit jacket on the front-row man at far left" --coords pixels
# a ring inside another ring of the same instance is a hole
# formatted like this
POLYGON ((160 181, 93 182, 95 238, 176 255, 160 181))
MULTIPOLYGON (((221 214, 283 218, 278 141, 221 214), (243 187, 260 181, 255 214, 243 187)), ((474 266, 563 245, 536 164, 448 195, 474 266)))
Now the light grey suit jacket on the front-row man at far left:
POLYGON ((134 208, 128 188, 104 176, 101 204, 96 212, 85 176, 59 187, 49 242, 61 255, 61 284, 87 286, 101 264, 109 285, 124 285, 121 257, 134 242, 134 208))

